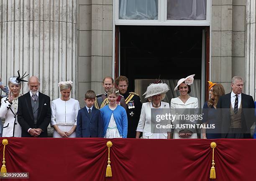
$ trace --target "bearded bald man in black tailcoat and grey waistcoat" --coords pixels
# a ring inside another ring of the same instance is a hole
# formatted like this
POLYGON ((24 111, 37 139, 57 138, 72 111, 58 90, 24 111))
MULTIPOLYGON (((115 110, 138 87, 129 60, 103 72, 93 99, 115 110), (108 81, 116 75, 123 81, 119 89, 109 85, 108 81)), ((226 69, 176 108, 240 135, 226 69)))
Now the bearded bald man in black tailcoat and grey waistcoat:
POLYGON ((51 121, 50 97, 39 92, 39 79, 31 76, 29 92, 18 99, 18 122, 22 128, 21 137, 47 137, 51 121))

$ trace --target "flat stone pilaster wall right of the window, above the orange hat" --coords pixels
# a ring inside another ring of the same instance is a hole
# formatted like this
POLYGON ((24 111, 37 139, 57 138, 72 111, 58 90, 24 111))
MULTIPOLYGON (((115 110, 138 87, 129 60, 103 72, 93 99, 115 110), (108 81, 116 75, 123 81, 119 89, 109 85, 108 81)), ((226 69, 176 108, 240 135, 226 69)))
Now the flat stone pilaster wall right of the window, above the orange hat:
POLYGON ((233 76, 246 78, 245 15, 246 0, 212 0, 211 77, 226 93, 233 76))

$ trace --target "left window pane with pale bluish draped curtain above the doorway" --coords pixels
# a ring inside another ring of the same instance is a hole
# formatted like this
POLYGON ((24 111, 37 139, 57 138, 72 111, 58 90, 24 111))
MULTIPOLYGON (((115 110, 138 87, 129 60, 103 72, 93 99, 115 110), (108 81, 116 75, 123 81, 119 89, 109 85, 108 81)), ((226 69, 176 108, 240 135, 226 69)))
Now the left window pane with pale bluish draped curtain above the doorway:
POLYGON ((119 0, 119 19, 157 20, 158 0, 119 0))

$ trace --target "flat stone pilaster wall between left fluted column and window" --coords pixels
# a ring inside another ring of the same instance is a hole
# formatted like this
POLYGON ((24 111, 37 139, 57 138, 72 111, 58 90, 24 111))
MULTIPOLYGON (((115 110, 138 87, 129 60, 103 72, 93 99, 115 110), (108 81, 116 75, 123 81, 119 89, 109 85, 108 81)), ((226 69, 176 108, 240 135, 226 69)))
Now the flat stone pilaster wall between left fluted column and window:
POLYGON ((112 76, 113 0, 79 0, 79 102, 92 89, 103 92, 102 79, 112 76))

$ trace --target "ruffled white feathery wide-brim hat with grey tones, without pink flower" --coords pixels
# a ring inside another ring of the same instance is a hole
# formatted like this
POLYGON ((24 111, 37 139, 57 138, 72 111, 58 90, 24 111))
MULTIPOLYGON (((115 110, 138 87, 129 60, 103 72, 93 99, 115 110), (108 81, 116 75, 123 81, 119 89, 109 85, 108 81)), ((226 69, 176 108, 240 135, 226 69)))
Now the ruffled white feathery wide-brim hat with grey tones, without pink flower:
POLYGON ((154 95, 164 94, 169 90, 169 86, 165 83, 150 84, 147 88, 147 91, 143 95, 146 95, 145 98, 148 98, 154 95))

